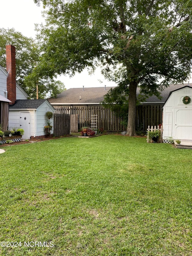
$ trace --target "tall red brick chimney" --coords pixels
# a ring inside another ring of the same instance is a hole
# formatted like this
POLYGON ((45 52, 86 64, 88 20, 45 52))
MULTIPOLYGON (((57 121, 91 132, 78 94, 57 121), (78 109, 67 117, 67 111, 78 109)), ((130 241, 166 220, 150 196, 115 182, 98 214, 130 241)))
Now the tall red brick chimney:
POLYGON ((7 98, 15 104, 16 101, 16 62, 15 47, 6 45, 6 66, 7 66, 7 98))

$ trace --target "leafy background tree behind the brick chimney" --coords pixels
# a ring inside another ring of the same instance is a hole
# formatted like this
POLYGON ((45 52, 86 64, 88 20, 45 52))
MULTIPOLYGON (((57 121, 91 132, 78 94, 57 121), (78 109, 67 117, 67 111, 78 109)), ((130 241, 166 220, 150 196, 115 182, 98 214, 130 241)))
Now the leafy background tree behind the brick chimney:
POLYGON ((0 28, 0 65, 3 68, 6 69, 7 44, 12 44, 16 48, 16 82, 30 98, 36 98, 37 84, 39 98, 45 98, 47 94, 55 97, 65 89, 61 81, 55 81, 53 76, 47 76, 39 71, 41 52, 38 44, 14 29, 0 28))

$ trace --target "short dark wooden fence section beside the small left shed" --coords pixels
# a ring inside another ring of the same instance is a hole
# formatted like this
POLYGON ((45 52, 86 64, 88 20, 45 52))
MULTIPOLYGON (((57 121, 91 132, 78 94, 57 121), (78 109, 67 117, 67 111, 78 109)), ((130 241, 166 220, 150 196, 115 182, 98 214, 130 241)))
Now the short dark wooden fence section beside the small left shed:
POLYGON ((53 134, 55 137, 70 134, 69 114, 53 114, 53 134))

